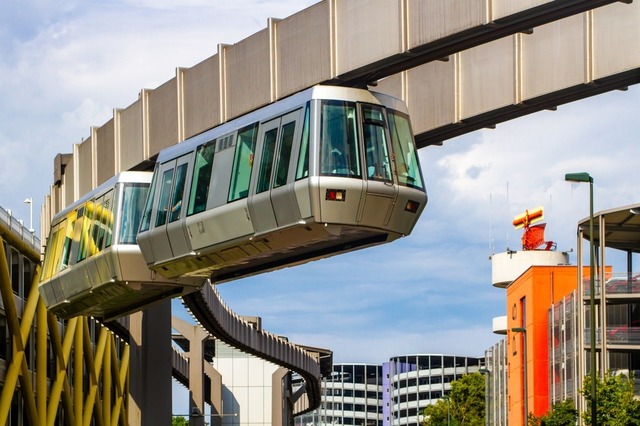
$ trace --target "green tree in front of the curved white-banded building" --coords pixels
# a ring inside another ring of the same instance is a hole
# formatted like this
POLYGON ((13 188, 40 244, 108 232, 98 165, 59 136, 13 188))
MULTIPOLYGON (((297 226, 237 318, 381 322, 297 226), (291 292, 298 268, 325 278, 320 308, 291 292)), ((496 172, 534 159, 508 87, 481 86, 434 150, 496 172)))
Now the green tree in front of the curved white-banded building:
POLYGON ((451 382, 447 398, 425 408, 423 425, 482 426, 484 421, 484 376, 472 373, 451 382))

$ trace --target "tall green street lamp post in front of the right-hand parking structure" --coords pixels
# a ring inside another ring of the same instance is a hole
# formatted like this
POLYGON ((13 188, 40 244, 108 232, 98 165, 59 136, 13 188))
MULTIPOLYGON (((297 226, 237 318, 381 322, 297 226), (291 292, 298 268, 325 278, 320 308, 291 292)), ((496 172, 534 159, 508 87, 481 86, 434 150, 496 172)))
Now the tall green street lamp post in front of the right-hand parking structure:
POLYGON ((564 175, 567 182, 589 183, 589 323, 591 355, 591 424, 596 424, 596 302, 595 302, 595 261, 593 252, 593 177, 587 172, 567 173, 564 175))

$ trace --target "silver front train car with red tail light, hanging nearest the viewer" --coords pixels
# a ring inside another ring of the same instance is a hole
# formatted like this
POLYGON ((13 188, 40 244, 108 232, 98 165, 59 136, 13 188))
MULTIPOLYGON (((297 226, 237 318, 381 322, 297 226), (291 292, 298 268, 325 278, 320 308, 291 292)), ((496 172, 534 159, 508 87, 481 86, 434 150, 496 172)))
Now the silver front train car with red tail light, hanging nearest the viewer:
POLYGON ((426 202, 406 106, 316 86, 160 152, 138 244, 224 282, 393 241, 426 202))

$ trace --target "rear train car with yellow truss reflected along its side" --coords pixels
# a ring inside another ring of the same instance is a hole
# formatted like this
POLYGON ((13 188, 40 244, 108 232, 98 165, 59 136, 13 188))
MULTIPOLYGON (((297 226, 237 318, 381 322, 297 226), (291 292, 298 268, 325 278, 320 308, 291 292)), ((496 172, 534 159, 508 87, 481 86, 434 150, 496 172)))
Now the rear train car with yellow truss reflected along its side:
POLYGON ((53 217, 38 286, 49 310, 110 319, 204 284, 147 268, 136 234, 151 178, 122 172, 53 217))

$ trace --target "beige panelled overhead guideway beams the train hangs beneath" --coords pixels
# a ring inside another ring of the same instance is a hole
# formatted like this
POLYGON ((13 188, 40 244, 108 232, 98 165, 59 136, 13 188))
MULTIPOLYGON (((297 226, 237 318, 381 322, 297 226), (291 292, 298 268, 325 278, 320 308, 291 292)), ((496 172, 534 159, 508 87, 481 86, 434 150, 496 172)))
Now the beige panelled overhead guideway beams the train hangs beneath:
POLYGON ((92 127, 51 205, 315 84, 377 84, 405 99, 421 147, 635 84, 640 2, 629 1, 325 0, 270 19, 92 127))

